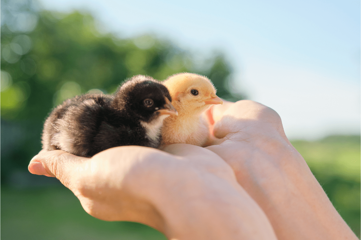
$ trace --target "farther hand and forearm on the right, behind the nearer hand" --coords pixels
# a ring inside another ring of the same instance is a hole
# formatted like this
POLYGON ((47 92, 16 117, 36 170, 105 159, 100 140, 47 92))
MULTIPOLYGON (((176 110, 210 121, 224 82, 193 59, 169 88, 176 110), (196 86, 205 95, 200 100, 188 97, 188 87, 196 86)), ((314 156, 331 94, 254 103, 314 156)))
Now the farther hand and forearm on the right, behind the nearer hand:
POLYGON ((288 141, 273 109, 242 100, 214 106, 208 116, 216 139, 206 148, 232 167, 278 239, 357 239, 288 141))

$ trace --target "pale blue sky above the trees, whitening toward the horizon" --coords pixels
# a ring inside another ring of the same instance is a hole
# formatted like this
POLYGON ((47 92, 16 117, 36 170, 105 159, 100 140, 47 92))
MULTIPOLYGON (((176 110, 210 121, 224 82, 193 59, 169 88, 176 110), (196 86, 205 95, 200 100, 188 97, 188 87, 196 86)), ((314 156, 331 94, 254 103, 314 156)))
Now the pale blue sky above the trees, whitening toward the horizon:
POLYGON ((286 135, 360 133, 360 1, 40 1, 91 12, 104 31, 154 33, 200 55, 223 51, 249 99, 286 135))

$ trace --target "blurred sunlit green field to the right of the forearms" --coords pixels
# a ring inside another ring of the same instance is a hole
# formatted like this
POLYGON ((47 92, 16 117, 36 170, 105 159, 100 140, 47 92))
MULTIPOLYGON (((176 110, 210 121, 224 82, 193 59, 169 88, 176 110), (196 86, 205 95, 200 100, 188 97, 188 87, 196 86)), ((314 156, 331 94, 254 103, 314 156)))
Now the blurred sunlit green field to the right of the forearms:
POLYGON ((360 136, 292 141, 332 204, 360 237, 360 136))

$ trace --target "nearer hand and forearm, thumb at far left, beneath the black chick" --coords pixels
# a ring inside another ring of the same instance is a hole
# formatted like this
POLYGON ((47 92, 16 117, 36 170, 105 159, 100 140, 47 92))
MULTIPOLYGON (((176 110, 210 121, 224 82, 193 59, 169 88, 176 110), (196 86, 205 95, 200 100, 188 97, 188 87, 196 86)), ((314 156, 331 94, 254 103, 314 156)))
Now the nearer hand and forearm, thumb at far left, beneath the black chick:
POLYGON ((57 177, 94 217, 144 223, 169 239, 276 239, 230 166, 197 146, 122 146, 92 158, 42 152, 29 171, 57 177))

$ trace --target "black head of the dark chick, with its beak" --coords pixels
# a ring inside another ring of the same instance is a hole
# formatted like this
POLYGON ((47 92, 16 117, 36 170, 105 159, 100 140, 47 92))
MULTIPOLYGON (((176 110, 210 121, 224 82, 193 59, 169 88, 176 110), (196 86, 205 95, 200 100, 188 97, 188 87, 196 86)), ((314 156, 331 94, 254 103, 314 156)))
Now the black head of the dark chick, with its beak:
POLYGON ((152 122, 170 115, 178 115, 171 104, 168 89, 160 81, 137 75, 125 82, 117 91, 115 99, 126 113, 144 122, 152 122))

